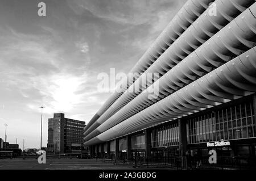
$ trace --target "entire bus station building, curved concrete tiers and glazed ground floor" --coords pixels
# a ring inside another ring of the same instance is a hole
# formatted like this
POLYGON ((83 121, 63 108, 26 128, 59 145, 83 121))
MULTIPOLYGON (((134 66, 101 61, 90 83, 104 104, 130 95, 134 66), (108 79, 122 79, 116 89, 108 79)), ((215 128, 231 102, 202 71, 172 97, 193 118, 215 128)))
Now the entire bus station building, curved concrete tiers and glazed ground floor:
POLYGON ((109 158, 183 157, 191 150, 207 163, 214 149, 218 163, 255 161, 255 17, 254 0, 187 1, 131 69, 137 75, 90 120, 84 144, 109 158), (159 78, 145 86, 147 73, 159 78), (152 98, 147 90, 154 86, 159 94, 152 98))

